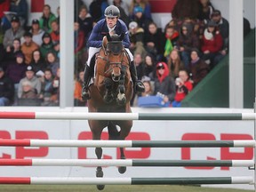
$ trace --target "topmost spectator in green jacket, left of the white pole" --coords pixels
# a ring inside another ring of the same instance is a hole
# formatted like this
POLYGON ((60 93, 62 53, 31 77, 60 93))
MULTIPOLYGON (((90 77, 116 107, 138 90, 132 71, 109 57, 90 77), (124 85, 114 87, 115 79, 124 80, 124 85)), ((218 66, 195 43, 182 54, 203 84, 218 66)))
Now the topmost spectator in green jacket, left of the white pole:
POLYGON ((56 16, 51 11, 49 4, 44 4, 43 14, 39 20, 39 26, 47 33, 52 33, 52 20, 56 20, 56 16))

